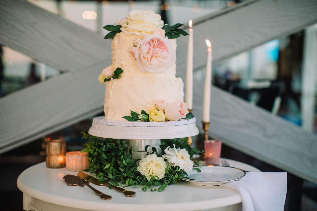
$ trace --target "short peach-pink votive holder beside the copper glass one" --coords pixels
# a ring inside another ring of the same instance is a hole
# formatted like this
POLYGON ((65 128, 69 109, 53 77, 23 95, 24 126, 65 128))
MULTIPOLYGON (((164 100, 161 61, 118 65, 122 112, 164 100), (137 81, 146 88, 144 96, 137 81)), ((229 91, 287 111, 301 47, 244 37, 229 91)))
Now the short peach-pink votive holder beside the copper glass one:
POLYGON ((68 171, 82 171, 87 169, 88 153, 73 151, 66 152, 66 168, 68 171))

